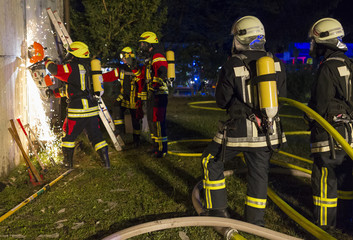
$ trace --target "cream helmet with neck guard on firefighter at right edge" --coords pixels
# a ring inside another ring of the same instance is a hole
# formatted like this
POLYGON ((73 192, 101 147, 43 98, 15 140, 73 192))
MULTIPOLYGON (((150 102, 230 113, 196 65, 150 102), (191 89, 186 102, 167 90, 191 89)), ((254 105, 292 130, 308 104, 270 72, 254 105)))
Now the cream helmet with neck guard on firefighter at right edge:
POLYGON ((309 54, 312 57, 323 55, 320 45, 333 50, 347 51, 347 46, 342 42, 344 30, 339 21, 334 18, 322 18, 318 20, 309 31, 310 42, 309 54))

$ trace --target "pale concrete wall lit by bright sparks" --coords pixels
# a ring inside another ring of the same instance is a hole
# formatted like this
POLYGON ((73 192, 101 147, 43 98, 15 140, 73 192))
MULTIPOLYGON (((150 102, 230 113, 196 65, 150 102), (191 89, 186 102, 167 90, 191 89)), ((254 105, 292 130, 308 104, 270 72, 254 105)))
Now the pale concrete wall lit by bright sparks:
MULTIPOLYGON (((57 56, 46 9, 57 10, 62 16, 63 0, 0 0, 0 3, 1 177, 6 176, 22 159, 8 131, 9 120, 20 117, 24 123, 30 123, 31 112, 38 109, 31 99, 36 90, 30 87, 33 80, 26 69, 30 65, 27 47, 37 41, 48 47, 47 55, 57 56)), ((23 134, 21 136, 26 144, 23 134)))

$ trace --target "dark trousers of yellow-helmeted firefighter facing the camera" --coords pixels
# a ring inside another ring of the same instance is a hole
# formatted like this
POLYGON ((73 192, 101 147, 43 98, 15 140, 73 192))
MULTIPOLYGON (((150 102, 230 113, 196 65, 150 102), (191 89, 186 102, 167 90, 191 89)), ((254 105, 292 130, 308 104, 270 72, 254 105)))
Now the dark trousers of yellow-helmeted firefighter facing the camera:
POLYGON ((117 103, 113 107, 113 119, 115 125, 115 134, 125 133, 125 111, 129 109, 131 115, 131 123, 133 128, 133 140, 135 143, 140 141, 141 135, 141 119, 136 117, 136 109, 126 108, 117 103))

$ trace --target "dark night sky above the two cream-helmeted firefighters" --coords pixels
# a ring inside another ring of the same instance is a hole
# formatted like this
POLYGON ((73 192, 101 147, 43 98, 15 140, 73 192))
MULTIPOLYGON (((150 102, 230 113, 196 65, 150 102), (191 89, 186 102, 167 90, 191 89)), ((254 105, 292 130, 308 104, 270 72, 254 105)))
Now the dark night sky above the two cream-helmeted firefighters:
POLYGON ((351 0, 167 0, 165 42, 214 42, 230 47, 230 29, 239 17, 254 15, 264 24, 267 47, 281 52, 291 42, 308 42, 308 31, 324 17, 339 20, 353 42, 351 0))

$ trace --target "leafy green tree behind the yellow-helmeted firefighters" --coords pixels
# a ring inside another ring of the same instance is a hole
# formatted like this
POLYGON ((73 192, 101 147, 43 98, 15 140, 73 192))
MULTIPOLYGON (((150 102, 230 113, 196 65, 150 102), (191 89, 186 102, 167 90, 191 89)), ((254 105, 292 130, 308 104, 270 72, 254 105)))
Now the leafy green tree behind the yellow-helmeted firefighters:
POLYGON ((152 31, 161 38, 167 7, 161 0, 71 0, 70 26, 75 41, 85 42, 104 65, 121 49, 136 49, 138 38, 152 31))

